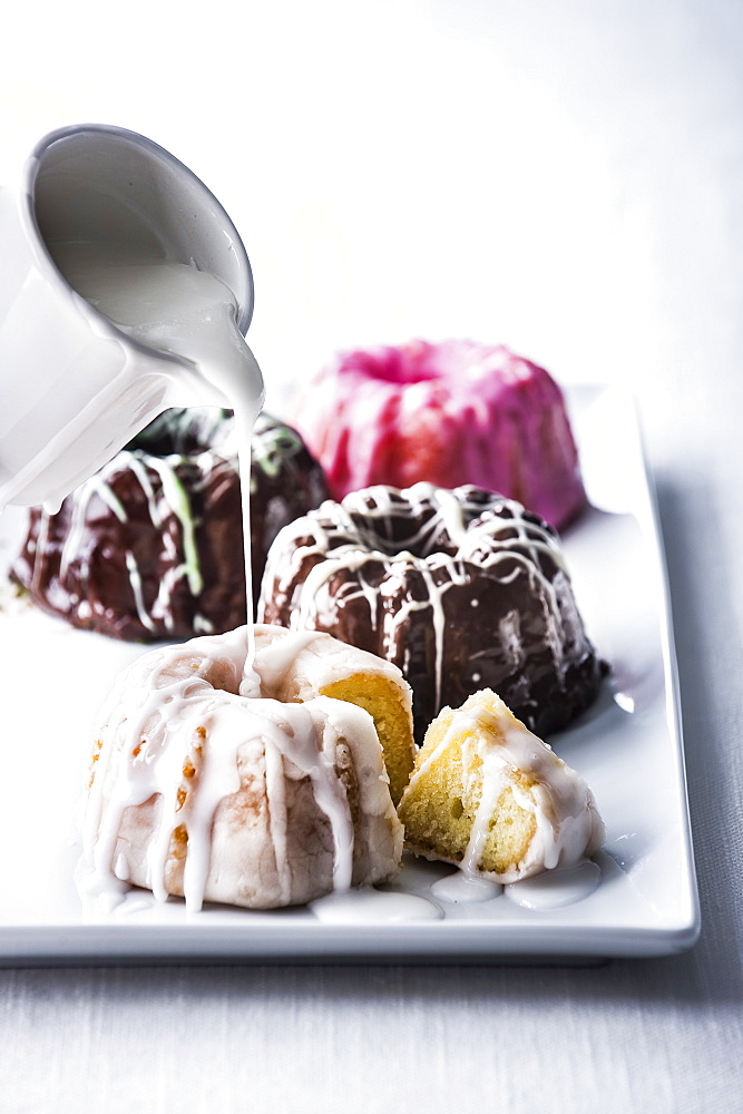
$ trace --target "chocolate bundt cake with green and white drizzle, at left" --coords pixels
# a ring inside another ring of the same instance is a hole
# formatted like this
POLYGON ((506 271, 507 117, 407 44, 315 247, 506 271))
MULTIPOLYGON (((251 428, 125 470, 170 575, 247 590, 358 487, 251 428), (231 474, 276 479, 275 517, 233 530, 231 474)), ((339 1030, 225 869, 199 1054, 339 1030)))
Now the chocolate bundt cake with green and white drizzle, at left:
MULTIPOLYGON (((272 540, 327 488, 299 434, 262 414, 251 467, 253 598, 272 540)), ((62 502, 30 512, 12 574, 76 627, 154 642, 246 620, 231 411, 168 410, 62 502)))

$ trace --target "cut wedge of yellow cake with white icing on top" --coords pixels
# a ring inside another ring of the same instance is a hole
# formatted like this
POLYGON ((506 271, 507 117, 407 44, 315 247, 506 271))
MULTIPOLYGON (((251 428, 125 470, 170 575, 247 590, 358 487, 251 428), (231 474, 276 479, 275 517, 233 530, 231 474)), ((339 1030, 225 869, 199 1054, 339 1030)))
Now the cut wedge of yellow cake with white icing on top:
POLYGON ((604 839, 584 780, 487 690, 431 724, 398 814, 414 853, 496 882, 577 866, 604 839))

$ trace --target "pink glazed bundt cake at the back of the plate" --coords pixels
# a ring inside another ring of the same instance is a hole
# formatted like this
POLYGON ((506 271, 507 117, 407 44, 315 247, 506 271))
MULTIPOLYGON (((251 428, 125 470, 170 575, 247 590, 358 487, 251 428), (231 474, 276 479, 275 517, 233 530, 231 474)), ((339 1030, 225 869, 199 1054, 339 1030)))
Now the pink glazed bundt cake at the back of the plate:
POLYGON ((559 387, 502 345, 343 352, 303 391, 294 423, 334 499, 374 483, 472 483, 558 529, 586 502, 559 387))

